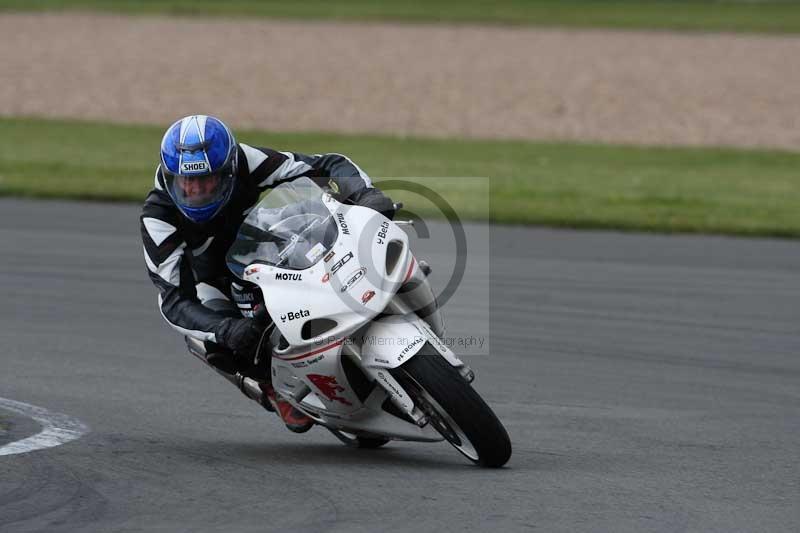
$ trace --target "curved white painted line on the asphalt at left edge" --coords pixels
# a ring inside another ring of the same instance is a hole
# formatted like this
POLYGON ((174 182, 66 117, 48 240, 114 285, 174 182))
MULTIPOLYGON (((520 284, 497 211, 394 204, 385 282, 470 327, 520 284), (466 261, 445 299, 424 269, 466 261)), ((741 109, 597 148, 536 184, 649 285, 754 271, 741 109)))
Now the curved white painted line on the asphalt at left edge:
POLYGON ((0 408, 32 418, 42 426, 42 430, 35 435, 0 446, 0 455, 52 448, 78 439, 89 432, 89 426, 80 420, 61 413, 52 413, 35 405, 0 398, 0 408))

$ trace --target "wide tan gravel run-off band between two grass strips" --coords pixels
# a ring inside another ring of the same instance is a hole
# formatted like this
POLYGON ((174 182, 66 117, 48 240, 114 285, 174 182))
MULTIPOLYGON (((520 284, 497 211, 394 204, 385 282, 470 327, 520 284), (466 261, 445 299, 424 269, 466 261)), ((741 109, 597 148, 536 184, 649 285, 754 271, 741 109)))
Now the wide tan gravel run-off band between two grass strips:
POLYGON ((800 148, 800 38, 0 15, 0 116, 800 148))

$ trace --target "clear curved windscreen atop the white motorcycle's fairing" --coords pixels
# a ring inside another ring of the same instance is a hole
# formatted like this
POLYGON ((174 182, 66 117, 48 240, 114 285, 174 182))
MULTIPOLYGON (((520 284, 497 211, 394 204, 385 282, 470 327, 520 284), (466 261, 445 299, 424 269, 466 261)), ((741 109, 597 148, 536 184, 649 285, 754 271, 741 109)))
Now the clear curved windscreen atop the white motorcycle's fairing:
POLYGON ((323 202, 325 192, 308 178, 283 183, 247 215, 226 257, 242 279, 253 263, 305 270, 325 256, 339 238, 336 221, 323 202))

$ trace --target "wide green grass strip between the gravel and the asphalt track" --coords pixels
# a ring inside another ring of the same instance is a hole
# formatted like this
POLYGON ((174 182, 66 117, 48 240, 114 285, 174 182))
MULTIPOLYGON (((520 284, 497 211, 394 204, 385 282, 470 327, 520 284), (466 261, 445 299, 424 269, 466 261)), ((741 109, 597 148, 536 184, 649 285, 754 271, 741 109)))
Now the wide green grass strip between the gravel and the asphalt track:
MULTIPOLYGON (((0 195, 141 201, 153 185, 164 127, 0 119, 0 195)), ((279 150, 344 153, 376 181, 422 176, 414 181, 470 220, 800 237, 800 153, 332 133, 238 136, 279 150)), ((415 194, 393 197, 420 214, 436 214, 415 194)))

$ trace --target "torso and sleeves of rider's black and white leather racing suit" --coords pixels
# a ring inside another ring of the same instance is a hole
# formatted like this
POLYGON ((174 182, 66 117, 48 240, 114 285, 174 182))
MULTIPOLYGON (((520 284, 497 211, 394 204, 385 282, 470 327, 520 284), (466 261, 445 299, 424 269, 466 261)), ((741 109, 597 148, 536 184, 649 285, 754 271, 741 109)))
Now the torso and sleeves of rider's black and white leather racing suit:
POLYGON ((215 328, 230 314, 203 304, 230 300, 231 274, 225 254, 239 226, 264 190, 301 176, 321 186, 332 180, 339 200, 392 214, 391 200, 340 154, 308 156, 240 143, 232 197, 204 224, 195 224, 181 214, 166 192, 160 166, 156 169, 155 187, 147 195, 140 224, 147 271, 158 288, 161 314, 170 326, 184 335, 217 342, 215 328))

